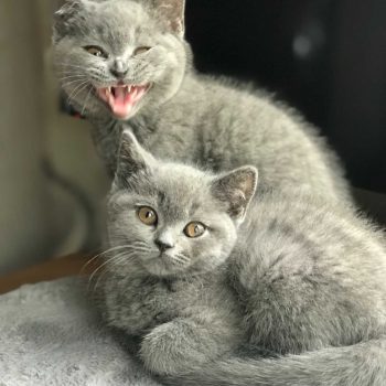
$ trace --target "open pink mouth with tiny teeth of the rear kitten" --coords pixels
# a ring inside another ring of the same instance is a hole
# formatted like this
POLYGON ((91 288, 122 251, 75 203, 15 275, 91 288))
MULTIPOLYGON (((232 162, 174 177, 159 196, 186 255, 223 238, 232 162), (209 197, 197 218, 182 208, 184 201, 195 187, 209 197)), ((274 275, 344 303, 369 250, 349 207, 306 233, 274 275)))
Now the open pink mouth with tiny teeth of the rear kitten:
POLYGON ((97 94, 117 118, 128 119, 149 88, 150 85, 117 85, 97 88, 97 94))

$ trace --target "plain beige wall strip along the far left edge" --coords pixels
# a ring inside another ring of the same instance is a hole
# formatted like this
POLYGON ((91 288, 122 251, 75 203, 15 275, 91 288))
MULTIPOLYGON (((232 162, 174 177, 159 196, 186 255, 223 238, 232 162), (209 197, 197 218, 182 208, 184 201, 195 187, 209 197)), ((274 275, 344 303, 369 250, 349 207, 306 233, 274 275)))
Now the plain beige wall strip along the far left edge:
POLYGON ((52 237, 52 201, 41 172, 43 64, 35 15, 33 1, 0 2, 1 270, 30 262, 52 237))

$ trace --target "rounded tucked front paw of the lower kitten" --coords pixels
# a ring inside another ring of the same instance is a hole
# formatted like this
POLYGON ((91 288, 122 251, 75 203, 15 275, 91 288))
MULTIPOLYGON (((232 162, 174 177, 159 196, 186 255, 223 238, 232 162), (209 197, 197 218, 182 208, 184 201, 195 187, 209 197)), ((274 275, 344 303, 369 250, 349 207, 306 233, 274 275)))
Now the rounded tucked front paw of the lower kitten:
POLYGON ((176 375, 206 362, 205 344, 193 321, 175 319, 144 336, 140 356, 150 372, 176 375))

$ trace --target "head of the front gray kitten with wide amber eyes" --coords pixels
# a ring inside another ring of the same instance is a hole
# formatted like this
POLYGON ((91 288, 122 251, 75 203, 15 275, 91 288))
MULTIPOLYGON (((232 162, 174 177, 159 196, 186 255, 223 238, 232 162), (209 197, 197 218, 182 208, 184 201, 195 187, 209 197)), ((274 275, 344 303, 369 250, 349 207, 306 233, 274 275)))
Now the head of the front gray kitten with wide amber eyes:
POLYGON ((214 270, 229 256, 256 190, 257 170, 213 175, 156 160, 124 132, 108 200, 110 269, 156 276, 214 270))

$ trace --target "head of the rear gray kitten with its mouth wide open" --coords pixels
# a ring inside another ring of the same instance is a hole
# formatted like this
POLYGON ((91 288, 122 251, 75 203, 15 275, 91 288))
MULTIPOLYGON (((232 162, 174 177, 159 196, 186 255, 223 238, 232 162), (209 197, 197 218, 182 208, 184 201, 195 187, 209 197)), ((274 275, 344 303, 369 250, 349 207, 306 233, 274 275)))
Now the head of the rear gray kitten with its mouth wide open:
POLYGON ((67 0, 55 14, 55 68, 86 115, 129 119, 179 89, 184 0, 67 0))

